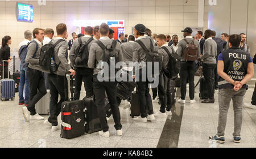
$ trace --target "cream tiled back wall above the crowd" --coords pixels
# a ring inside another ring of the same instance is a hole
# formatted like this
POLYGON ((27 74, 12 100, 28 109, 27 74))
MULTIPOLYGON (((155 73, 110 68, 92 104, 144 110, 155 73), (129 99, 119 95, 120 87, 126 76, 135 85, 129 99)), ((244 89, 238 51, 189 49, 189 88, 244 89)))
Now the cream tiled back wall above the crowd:
MULTIPOLYGON (((198 0, 126 0, 126 1, 46 1, 46 6, 34 6, 34 22, 16 22, 16 2, 0 2, 0 37, 12 37, 11 48, 23 40, 23 32, 35 27, 53 28, 59 23, 68 27, 69 38, 76 32, 75 19, 118 19, 125 20, 125 31, 142 23, 152 33, 177 34, 185 27, 197 27, 198 0)), ((208 2, 208 1, 207 1, 208 2)), ((205 2, 204 27, 208 25, 208 3, 205 2)))

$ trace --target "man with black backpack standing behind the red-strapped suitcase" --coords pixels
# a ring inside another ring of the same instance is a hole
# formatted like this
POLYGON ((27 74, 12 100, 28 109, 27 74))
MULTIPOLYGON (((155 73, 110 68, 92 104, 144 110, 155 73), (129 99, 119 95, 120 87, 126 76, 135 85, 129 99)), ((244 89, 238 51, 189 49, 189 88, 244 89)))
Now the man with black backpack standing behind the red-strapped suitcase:
MULTIPOLYGON (((93 35, 93 28, 90 26, 85 27, 85 36, 81 37, 81 42, 82 42, 82 44, 85 44, 85 42, 86 42, 88 51, 90 50, 90 46, 92 46, 93 42, 96 41, 92 38, 92 35, 93 35)), ((93 83, 92 83, 93 69, 88 68, 87 64, 85 64, 85 63, 78 62, 80 58, 77 58, 75 55, 75 53, 76 53, 76 51, 78 51, 77 49, 79 48, 79 45, 80 45, 79 40, 80 40, 80 38, 76 39, 73 42, 72 48, 69 53, 69 59, 71 60, 71 64, 72 64, 72 66, 75 66, 75 70, 76 70, 76 79, 75 79, 76 88, 75 88, 75 94, 74 94, 75 100, 80 99, 82 81, 84 81, 86 97, 93 96, 93 83)))

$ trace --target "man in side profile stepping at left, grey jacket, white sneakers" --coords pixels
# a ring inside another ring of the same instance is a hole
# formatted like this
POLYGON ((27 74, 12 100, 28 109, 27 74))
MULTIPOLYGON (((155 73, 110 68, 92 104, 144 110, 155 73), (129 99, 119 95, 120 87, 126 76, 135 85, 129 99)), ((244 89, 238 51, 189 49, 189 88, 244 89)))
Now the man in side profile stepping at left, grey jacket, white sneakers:
POLYGON ((35 104, 46 94, 43 72, 42 68, 39 66, 39 56, 42 41, 44 40, 44 30, 42 28, 35 28, 33 36, 34 41, 28 45, 26 56, 26 62, 28 63, 27 78, 30 83, 30 100, 28 101, 28 105, 22 108, 23 117, 26 122, 30 122, 30 119, 44 119, 44 117, 37 114, 35 110, 35 104), (38 48, 37 51, 36 48, 38 48))

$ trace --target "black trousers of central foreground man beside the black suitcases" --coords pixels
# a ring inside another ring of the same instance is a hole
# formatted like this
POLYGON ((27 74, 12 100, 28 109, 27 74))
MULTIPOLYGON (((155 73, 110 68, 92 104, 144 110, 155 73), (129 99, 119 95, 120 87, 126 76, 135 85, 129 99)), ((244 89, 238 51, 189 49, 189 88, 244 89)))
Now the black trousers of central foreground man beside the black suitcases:
POLYGON ((97 105, 98 117, 100 118, 102 131, 109 131, 108 122, 106 120, 105 96, 107 94, 109 104, 111 106, 115 130, 121 130, 121 117, 117 103, 117 87, 115 81, 98 81, 97 75, 93 76, 93 89, 95 92, 95 101, 97 105), (105 94, 106 92, 106 94, 105 94))

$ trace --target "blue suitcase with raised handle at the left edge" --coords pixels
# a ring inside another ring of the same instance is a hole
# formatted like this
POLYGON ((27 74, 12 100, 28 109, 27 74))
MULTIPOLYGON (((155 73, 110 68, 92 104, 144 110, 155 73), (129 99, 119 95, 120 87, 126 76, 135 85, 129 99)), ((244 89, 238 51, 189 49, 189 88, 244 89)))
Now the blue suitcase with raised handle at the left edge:
MULTIPOLYGON (((0 97, 1 97, 1 101, 3 100, 14 100, 15 98, 15 81, 13 79, 9 79, 9 72, 8 74, 8 78, 5 78, 5 69, 4 69, 4 62, 7 62, 7 60, 3 60, 3 79, 0 80, 0 97)), ((9 63, 7 65, 8 70, 9 70, 9 63)))

